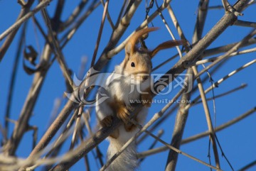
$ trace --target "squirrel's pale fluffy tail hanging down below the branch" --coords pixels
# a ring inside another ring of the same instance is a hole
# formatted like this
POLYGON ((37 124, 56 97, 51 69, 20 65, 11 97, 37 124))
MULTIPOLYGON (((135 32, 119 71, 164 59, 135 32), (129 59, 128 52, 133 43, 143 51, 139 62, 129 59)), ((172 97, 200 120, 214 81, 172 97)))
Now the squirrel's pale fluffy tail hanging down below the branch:
MULTIPOLYGON (((119 140, 110 138, 110 145, 107 149, 107 160, 117 153, 124 143, 119 140)), ((134 171, 137 167, 136 145, 133 142, 125 149, 112 163, 107 167, 107 171, 134 171)))

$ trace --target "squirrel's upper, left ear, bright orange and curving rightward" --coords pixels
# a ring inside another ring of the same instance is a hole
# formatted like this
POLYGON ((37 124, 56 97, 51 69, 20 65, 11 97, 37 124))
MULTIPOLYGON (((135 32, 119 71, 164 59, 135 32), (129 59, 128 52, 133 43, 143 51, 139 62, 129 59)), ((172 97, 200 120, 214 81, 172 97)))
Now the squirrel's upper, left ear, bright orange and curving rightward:
POLYGON ((157 29, 159 28, 155 28, 155 27, 152 27, 152 28, 144 28, 142 30, 139 30, 137 32, 135 32, 131 38, 129 38, 127 44, 125 45, 125 54, 126 55, 133 55, 135 53, 135 45, 137 43, 137 40, 139 38, 142 37, 142 35, 146 34, 146 33, 149 33, 151 31, 156 31, 157 29))

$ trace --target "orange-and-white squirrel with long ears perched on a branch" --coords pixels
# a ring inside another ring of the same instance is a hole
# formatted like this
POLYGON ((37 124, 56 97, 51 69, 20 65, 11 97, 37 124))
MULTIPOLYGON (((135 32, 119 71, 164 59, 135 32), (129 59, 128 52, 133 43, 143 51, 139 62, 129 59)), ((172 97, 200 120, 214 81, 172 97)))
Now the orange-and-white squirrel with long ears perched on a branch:
MULTIPOLYGON (((158 28, 144 28, 135 32, 125 45, 125 57, 121 64, 114 68, 114 72, 107 77, 104 87, 98 89, 96 95, 96 114, 102 127, 112 125, 112 119, 117 116, 122 124, 113 133, 108 140, 110 145, 107 150, 107 160, 117 153, 124 143, 132 138, 139 128, 130 122, 130 112, 134 111, 132 101, 142 101, 142 109, 134 114, 134 120, 143 125, 146 119, 149 106, 151 106, 151 58, 166 48, 172 48, 176 45, 182 45, 181 40, 169 40, 158 45, 154 50, 146 48, 137 48, 136 43, 143 35, 156 31, 158 28), (102 96, 108 96, 105 101, 100 101, 102 96)), ((137 168, 137 150, 133 142, 126 150, 114 160, 108 171, 133 171, 137 168)))

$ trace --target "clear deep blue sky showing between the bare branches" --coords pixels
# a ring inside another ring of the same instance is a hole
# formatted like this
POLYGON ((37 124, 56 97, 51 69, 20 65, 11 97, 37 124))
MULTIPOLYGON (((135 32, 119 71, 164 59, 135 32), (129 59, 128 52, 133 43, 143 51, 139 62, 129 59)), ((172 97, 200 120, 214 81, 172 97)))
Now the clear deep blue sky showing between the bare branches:
MULTIPOLYGON (((75 6, 78 5, 79 1, 67 1, 65 4, 64 12, 63 12, 63 20, 67 18, 67 16, 70 15, 71 11, 75 8, 75 6)), ((235 1, 230 1, 231 4, 233 4, 235 1)), ((210 1, 210 6, 214 5, 220 5, 221 1, 210 1)), ((56 1, 53 1, 50 6, 47 7, 50 15, 53 14, 53 10, 55 8, 56 1)), ((160 1, 159 1, 160 4, 160 1)), ((181 24, 181 27, 183 28, 183 31, 186 35, 186 38, 191 43, 191 38, 193 35, 193 28, 194 23, 196 21, 196 10, 198 6, 198 1, 190 1, 190 0, 180 0, 180 1, 173 1, 171 3, 174 12, 176 13, 176 17, 178 18, 178 21, 181 24)), ((117 18, 117 11, 119 10, 120 6, 122 6, 122 1, 110 1, 109 11, 110 16, 112 17, 112 20, 115 21, 117 18)), ((35 4, 33 5, 33 8, 35 7, 35 4)), ((156 10, 156 6, 154 6, 154 9, 156 10)), ((244 11, 244 16, 240 16, 240 20, 245 21, 255 21, 255 10, 256 6, 250 6, 246 11, 244 11)), ((5 31, 9 26, 11 26, 12 23, 16 21, 16 17, 18 16, 18 13, 20 11, 20 6, 16 1, 7 1, 7 0, 1 0, 0 1, 0 33, 5 31), (5 15, 3 15, 5 14, 5 15)), ((88 64, 87 64, 87 70, 90 67, 90 58, 92 57, 93 50, 95 48, 95 43, 97 39, 97 33, 100 26, 100 20, 102 18, 102 11, 103 7, 99 6, 95 11, 93 11, 92 15, 87 18, 85 23, 82 24, 82 26, 79 28, 77 33, 75 33, 74 38, 70 40, 70 43, 65 47, 63 50, 63 54, 65 56, 65 60, 68 63, 68 67, 73 70, 76 74, 78 74, 79 68, 80 68, 80 62, 82 57, 87 57, 88 64)), ((167 11, 164 11, 164 16, 166 17, 167 23, 169 23, 169 26, 171 29, 173 29, 176 38, 178 38, 178 35, 176 34, 176 31, 174 30, 174 26, 171 23, 171 20, 169 19, 169 13, 167 11)), ((203 31, 203 35, 206 35, 206 33, 212 28, 212 26, 215 25, 215 23, 218 22, 218 20, 224 15, 223 9, 221 10, 210 10, 208 12, 206 26, 203 31)), ((119 43, 122 42, 127 36, 134 31, 135 28, 137 28, 140 23, 144 20, 145 11, 144 11, 144 2, 139 6, 139 9, 134 14, 134 18, 132 22, 129 25, 129 28, 124 33, 124 36, 119 41, 119 43)), ((41 24, 43 24, 41 14, 37 13, 36 17, 41 21, 41 24)), ((149 48, 154 48, 156 45, 159 45, 159 43, 162 43, 166 40, 170 40, 171 37, 166 31, 164 24, 161 21, 161 18, 158 16, 154 21, 154 26, 160 27, 161 30, 156 31, 154 33, 151 33, 149 35, 149 38, 146 39, 146 45, 149 48)), ((45 28, 46 31, 46 28, 45 28)), ((247 33, 251 31, 251 28, 240 28, 239 26, 230 26, 220 37, 215 40, 212 45, 210 45, 209 48, 214 48, 216 46, 220 45, 226 45, 228 43, 234 43, 239 40, 241 40, 247 33)), ((105 45, 107 45, 107 42, 110 38, 111 28, 110 24, 106 21, 104 31, 102 33, 102 40, 100 42, 100 48, 98 51, 97 57, 99 57, 100 53, 102 53, 102 50, 105 48, 105 45)), ((4 123, 4 112, 6 109, 6 99, 10 84, 10 75, 11 70, 14 65, 14 57, 16 53, 16 48, 18 45, 18 37, 20 32, 18 32, 16 38, 14 39, 14 42, 11 44, 11 47, 9 48, 8 52, 6 53, 4 59, 1 61, 0 64, 0 87, 1 87, 1 94, 0 94, 0 121, 1 124, 4 123)), ((38 31, 34 31, 33 23, 31 21, 28 21, 28 31, 26 33, 26 45, 35 45, 36 50, 38 52, 42 52, 43 50, 43 37, 40 35, 38 31), (38 37, 39 40, 39 48, 36 46, 36 39, 38 37)), ((0 45, 2 45, 2 41, 0 42, 0 45)), ((255 47, 255 45, 251 45, 249 48, 255 47)), ((158 65, 163 60, 168 59, 171 55, 176 54, 176 49, 173 48, 171 50, 164 50, 161 51, 156 57, 154 57, 153 66, 158 65)), ((109 72, 112 72, 114 65, 117 65, 119 62, 123 60, 124 57, 124 51, 120 52, 116 56, 113 57, 109 72)), ((247 55, 239 55, 237 57, 232 57, 218 72, 216 72, 214 75, 212 75, 214 81, 217 81, 221 77, 224 77, 228 73, 232 72, 233 70, 237 69, 238 67, 245 65, 247 62, 250 62, 251 60, 255 59, 255 53, 250 53, 247 55)), ((168 70, 170 67, 172 67, 175 62, 178 61, 178 58, 175 60, 169 62, 167 65, 164 65, 164 67, 161 67, 161 69, 156 70, 155 73, 164 73, 164 71, 168 70)), ((201 70, 202 67, 199 67, 199 70, 201 70)), ((222 123, 225 123, 226 121, 230 121, 230 119, 235 118, 239 116, 240 114, 245 113, 245 111, 248 111, 255 107, 255 86, 256 86, 256 79, 253 76, 253 73, 255 73, 255 65, 251 65, 250 67, 246 68, 245 70, 242 70, 242 72, 239 72, 234 77, 231 77, 227 81, 223 82, 223 84, 220 85, 217 89, 215 89, 215 95, 221 94, 223 92, 227 92, 230 89, 233 89, 235 87, 240 86, 242 83, 247 83, 248 86, 246 89, 242 89, 238 92, 235 92, 233 94, 229 94, 228 96, 221 97, 219 99, 216 99, 215 106, 216 106, 216 126, 219 126, 222 123)), ((86 71, 87 71, 86 70, 86 71)), ((18 65, 18 75, 16 79, 16 85, 14 89, 14 99, 12 101, 12 107, 11 107, 11 119, 17 120, 18 115, 21 112, 23 103, 26 99, 26 95, 28 94, 29 87, 31 87, 31 82, 33 80, 33 75, 27 75, 26 72, 23 71, 22 67, 22 60, 19 60, 18 65)), ((207 89, 210 86, 210 82, 206 82, 204 84, 204 88, 207 89)), ((171 99, 178 89, 174 89, 171 94, 168 94, 166 96, 167 98, 171 99)), ((51 111, 53 109, 53 104, 56 98, 62 98, 63 92, 65 92, 65 82, 63 79, 62 72, 60 71, 60 67, 58 66, 58 63, 55 62, 52 67, 50 67, 50 70, 48 71, 47 77, 45 82, 43 83, 43 88, 41 90, 41 94, 38 96, 38 101, 36 103, 36 106, 33 111, 33 116, 31 117, 31 120, 29 123, 34 126, 38 126, 38 138, 40 138, 44 131, 46 131, 46 128, 48 126, 48 121, 50 118, 51 111)), ((193 94, 192 98, 198 96, 198 92, 196 94, 193 94)), ((212 96, 211 93, 207 94, 208 97, 212 96)), ((156 99, 163 98, 163 96, 157 96, 156 99)), ((62 102, 62 104, 65 104, 65 101, 62 102)), ((151 118, 151 116, 154 115, 157 111, 161 109, 162 106, 165 104, 156 104, 151 107, 148 115, 148 119, 151 118)), ((208 106, 210 108, 210 114, 213 117, 213 101, 208 102, 208 106)), ((166 142, 171 141, 171 133, 174 129, 174 121, 175 121, 175 114, 170 116, 166 121, 161 125, 160 128, 164 129, 164 136, 162 136, 162 139, 166 142)), ((92 113, 92 126, 95 126, 95 113, 92 113)), ((245 118, 243 121, 240 121, 239 123, 236 123, 234 126, 231 126, 229 128, 226 128, 224 131, 221 131, 217 133, 218 140, 220 140, 220 144, 222 145, 222 148, 225 152, 225 155, 228 157, 230 162, 232 163, 235 170, 238 170, 243 165, 246 165, 249 162, 252 162, 256 158, 256 137, 254 136, 254 130, 256 128, 256 116, 255 114, 252 114, 251 116, 245 118)), ((11 131, 14 128, 14 124, 10 123, 11 131)), ((157 128, 154 132, 155 134, 160 129, 157 128)), ((201 133, 203 131, 206 131, 208 129, 207 123, 206 123, 206 117, 203 111, 203 106, 197 105, 193 106, 191 110, 189 111, 188 121, 186 125, 186 129, 183 134, 183 138, 188 138, 189 136, 193 136, 197 133, 201 133)), ((10 131, 10 132, 11 132, 10 131)), ((139 145, 138 150, 139 152, 142 152, 144 150, 147 150, 151 143, 154 140, 152 138, 147 138, 144 143, 139 145)), ((62 153, 65 153, 65 150, 69 148, 70 142, 68 141, 65 143, 65 148, 62 151, 62 153)), ((32 133, 28 132, 25 136, 23 136, 23 139, 21 141, 21 144, 18 147, 18 150, 16 152, 16 155, 19 157, 26 158, 28 154, 31 152, 31 145, 32 145, 32 133)), ((103 155, 105 155, 107 150, 108 142, 105 140, 100 145, 100 149, 102 150, 103 155)), ((157 143, 156 147, 162 146, 161 143, 157 143)), ((196 140, 193 143, 189 143, 186 145, 181 146, 181 150, 184 152, 195 156, 196 158, 199 158, 203 161, 208 162, 208 138, 202 138, 200 140, 196 140)), ((220 154, 220 151, 219 151, 220 154)), ((142 170, 164 170, 164 167, 166 165, 166 158, 168 155, 168 151, 164 153, 159 153, 157 155, 152 155, 149 158, 146 158, 144 162, 142 162, 142 165, 140 168, 142 170)), ((211 151, 212 156, 212 162, 213 160, 213 151, 211 151)), ((95 160, 92 155, 92 153, 89 153, 90 158, 90 165, 92 167, 92 170, 98 170, 98 165, 95 165, 95 160)), ((225 162, 224 158, 221 158, 220 155, 220 165, 223 168, 223 170, 230 170, 230 167, 228 167, 228 163, 225 162)), ((80 170, 81 167, 84 166, 83 160, 80 160, 76 165, 74 165, 70 170, 80 170)), ((191 160, 190 158, 186 158, 185 156, 179 155, 178 158, 178 164, 176 167, 176 170, 209 170, 208 167, 201 165, 200 163, 191 160)))

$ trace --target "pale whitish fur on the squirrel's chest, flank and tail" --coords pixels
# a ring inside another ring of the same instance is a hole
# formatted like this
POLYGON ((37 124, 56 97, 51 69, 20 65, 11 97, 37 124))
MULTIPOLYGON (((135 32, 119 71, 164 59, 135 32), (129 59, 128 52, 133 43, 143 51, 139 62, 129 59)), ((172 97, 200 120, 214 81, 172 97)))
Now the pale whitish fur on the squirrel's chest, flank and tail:
MULTIPOLYGON (((144 90, 150 85, 150 79, 147 79, 145 82, 131 82, 131 77, 126 75, 122 71, 121 66, 115 67, 114 72, 107 78, 105 87, 101 87, 97 93, 96 101, 96 113, 99 121, 101 121, 106 116, 113 116, 113 111, 108 106, 108 103, 113 100, 114 96, 120 101, 124 101, 126 105, 130 104, 130 100, 140 99, 140 93, 136 86, 139 86, 140 89, 144 90), (134 91, 131 90, 131 84, 135 87, 134 91), (99 99, 102 97, 102 94, 107 94, 108 99, 99 103, 99 99)), ((143 107, 142 110, 137 114, 137 121, 140 124, 144 124, 146 119, 148 109, 143 107)), ((124 128, 124 124, 119 126, 119 137, 117 139, 108 138, 110 140, 110 145, 107 150, 107 160, 112 158, 112 156, 117 153, 124 143, 127 142, 132 136, 139 131, 138 128, 135 128, 133 131, 127 132, 124 128)), ((133 171, 137 167, 137 158, 136 158, 136 145, 132 143, 129 147, 124 150, 124 152, 119 155, 119 157, 112 162, 112 164, 107 167, 108 171, 133 171)))

